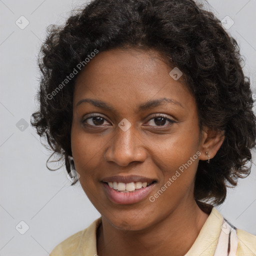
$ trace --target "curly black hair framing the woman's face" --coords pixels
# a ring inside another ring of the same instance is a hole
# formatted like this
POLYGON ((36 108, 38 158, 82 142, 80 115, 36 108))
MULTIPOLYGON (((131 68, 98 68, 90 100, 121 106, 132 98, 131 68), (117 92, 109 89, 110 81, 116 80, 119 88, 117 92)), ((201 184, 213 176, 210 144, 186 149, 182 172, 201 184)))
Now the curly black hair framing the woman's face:
POLYGON ((210 163, 199 160, 194 198, 222 203, 226 188, 250 173, 256 118, 236 40, 211 11, 193 0, 93 0, 72 13, 64 25, 48 26, 38 54, 40 106, 30 120, 37 134, 46 137, 70 173, 77 75, 66 85, 63 80, 78 63, 86 68, 84 59, 95 49, 111 48, 154 49, 183 72, 196 100, 199 127, 206 125, 225 135, 210 163), (61 89, 56 91, 57 87, 61 89))

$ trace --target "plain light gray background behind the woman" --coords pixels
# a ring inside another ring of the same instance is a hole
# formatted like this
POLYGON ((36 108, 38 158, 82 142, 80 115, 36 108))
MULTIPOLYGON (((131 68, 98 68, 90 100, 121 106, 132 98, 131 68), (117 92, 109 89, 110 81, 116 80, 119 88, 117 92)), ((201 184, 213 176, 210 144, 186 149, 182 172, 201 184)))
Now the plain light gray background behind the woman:
MULTIPOLYGON (((50 154, 29 123, 36 109, 34 96, 39 77, 36 55, 45 28, 51 23, 63 23, 69 11, 82 3, 81 0, 0 0, 0 255, 46 256, 57 243, 100 216, 79 184, 70 186, 64 167, 56 171, 46 168, 50 154), (24 29, 15 23, 16 20, 21 23, 21 15, 29 21, 24 29), (26 225, 28 230, 21 234, 26 225)), ((240 45, 246 62, 244 72, 250 76, 256 93, 256 0, 208 3, 206 8, 220 20, 228 15, 234 21, 228 32, 240 45)), ((253 152, 254 162, 255 157, 253 152)), ((254 235, 255 166, 253 163, 250 176, 240 180, 235 189, 229 189, 225 202, 217 207, 232 224, 254 235)))

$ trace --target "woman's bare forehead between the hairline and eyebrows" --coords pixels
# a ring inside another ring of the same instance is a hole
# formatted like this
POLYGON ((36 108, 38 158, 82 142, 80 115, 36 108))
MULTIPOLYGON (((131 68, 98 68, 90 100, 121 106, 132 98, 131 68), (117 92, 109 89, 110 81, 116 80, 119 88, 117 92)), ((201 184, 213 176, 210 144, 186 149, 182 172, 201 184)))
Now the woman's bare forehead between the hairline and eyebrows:
POLYGON ((175 80, 169 75, 172 69, 153 50, 111 49, 99 52, 77 77, 74 104, 85 96, 121 106, 166 96, 185 105, 194 104, 182 76, 175 80))

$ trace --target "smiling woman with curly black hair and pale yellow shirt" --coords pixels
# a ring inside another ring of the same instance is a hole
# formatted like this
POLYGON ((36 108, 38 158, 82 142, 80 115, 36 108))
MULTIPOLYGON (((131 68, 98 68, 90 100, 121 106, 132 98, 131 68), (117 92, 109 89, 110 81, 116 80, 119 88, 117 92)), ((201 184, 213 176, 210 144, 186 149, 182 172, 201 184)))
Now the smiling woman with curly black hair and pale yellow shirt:
POLYGON ((192 0, 94 0, 48 31, 31 123, 101 214, 50 255, 256 254, 213 207, 256 134, 220 21, 192 0))

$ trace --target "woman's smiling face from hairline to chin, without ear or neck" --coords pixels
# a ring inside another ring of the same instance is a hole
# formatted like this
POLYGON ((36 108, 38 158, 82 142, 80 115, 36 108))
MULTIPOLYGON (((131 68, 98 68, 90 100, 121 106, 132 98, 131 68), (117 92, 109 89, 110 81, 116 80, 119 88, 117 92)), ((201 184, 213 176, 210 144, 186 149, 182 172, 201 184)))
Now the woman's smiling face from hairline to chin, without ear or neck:
POLYGON ((92 204, 118 228, 146 228, 194 202, 196 103, 171 70, 154 51, 111 49, 77 77, 75 168, 92 204))

